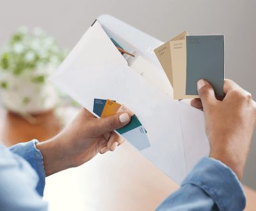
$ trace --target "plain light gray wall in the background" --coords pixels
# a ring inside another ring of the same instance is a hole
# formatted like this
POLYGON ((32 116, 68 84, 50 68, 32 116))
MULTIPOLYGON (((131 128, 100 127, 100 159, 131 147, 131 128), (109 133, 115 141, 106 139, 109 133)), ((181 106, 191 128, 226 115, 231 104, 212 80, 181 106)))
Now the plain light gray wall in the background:
MULTIPOLYGON (((256 1, 253 0, 22 0, 2 1, 0 45, 19 25, 36 25, 72 48, 95 17, 109 13, 159 40, 182 31, 225 34, 225 75, 256 98, 256 1)), ((256 135, 243 182, 256 189, 256 135)))

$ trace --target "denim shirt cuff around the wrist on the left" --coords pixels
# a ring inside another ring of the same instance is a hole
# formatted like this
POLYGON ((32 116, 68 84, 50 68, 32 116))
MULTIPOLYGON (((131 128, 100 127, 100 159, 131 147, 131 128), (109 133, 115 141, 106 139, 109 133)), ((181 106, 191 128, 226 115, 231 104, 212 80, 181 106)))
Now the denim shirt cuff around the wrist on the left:
POLYGON ((20 157, 23 157, 36 171, 39 178, 38 184, 36 186, 36 191, 38 192, 38 194, 43 196, 45 187, 44 159, 40 150, 36 149, 36 143, 38 143, 38 140, 18 143, 10 147, 10 151, 19 155, 20 157))

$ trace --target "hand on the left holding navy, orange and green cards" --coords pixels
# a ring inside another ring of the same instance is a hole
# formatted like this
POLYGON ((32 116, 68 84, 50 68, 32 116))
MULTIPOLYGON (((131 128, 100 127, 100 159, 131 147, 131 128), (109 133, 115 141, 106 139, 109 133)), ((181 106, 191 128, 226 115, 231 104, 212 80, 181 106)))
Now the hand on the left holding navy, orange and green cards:
POLYGON ((104 154, 115 150, 124 140, 113 130, 125 126, 130 120, 128 113, 97 119, 83 108, 59 135, 36 145, 44 157, 46 175, 79 166, 98 152, 104 154))

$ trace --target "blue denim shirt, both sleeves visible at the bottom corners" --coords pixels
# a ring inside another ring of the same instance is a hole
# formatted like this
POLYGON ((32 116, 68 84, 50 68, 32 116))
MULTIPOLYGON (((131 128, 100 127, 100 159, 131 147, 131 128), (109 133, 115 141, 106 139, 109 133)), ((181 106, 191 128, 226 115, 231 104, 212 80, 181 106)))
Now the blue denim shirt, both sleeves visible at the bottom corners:
MULTIPOLYGON (((0 210, 47 210, 42 201, 44 161, 36 143, 32 140, 9 149, 0 145, 0 210)), ((220 161, 204 157, 157 211, 240 211, 244 207, 244 192, 234 172, 220 161)))

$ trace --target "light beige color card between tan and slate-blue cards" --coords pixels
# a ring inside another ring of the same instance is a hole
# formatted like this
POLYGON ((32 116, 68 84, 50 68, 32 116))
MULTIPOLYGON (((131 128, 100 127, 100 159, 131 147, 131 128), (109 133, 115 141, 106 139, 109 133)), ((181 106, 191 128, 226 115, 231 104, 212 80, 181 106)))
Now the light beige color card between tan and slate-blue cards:
POLYGON ((198 98, 198 96, 186 95, 186 39, 170 41, 170 52, 172 54, 173 98, 198 98))

